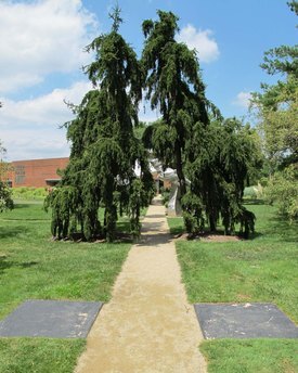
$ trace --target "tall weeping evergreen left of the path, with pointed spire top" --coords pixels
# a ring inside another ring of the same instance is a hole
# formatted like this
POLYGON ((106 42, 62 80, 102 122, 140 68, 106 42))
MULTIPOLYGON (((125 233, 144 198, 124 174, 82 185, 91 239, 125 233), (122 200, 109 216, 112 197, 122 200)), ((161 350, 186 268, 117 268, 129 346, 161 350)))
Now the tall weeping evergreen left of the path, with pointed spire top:
POLYGON ((69 236, 78 230, 83 239, 115 239, 118 213, 130 216, 131 232, 140 232, 140 209, 152 197, 153 181, 147 153, 134 137, 141 100, 142 70, 137 55, 118 34, 121 23, 116 8, 112 31, 88 46, 95 61, 86 67, 94 89, 75 107, 76 119, 67 124, 72 143, 69 164, 60 188, 46 207, 53 209, 52 233, 69 236), (141 167, 137 177, 135 165, 141 167), (100 222, 99 208, 104 208, 100 222))

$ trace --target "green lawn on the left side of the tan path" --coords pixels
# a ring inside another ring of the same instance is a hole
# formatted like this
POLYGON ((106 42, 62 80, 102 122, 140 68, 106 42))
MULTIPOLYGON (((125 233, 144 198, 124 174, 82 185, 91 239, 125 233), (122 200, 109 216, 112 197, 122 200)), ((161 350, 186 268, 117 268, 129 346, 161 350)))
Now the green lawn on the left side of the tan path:
MULTIPOLYGON (((127 221, 120 221, 122 229, 127 221)), ((131 244, 53 242, 41 203, 0 215, 0 319, 25 299, 102 300, 131 244)), ((85 340, 0 338, 0 372, 73 372, 85 340)))

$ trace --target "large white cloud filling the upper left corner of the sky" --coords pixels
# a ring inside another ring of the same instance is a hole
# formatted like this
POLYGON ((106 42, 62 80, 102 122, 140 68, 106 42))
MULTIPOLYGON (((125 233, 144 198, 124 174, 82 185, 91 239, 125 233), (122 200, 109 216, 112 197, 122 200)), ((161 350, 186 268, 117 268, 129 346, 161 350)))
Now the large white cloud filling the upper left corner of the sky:
POLYGON ((98 31, 81 0, 0 2, 0 92, 41 82, 50 73, 78 70, 98 31))

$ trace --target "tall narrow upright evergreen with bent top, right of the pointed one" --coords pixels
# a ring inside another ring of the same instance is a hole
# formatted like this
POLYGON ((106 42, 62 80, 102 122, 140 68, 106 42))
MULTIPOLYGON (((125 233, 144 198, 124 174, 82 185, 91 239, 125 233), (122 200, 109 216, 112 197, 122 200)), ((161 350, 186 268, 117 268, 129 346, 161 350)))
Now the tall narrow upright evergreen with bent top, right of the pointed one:
POLYGON ((171 12, 157 13, 158 21, 143 23, 145 44, 142 63, 146 73, 146 97, 151 99, 152 108, 160 111, 161 119, 148 127, 144 139, 165 167, 176 168, 183 196, 186 193, 183 170, 185 139, 190 137, 192 123, 208 125, 208 102, 195 52, 174 40, 178 17, 171 12))

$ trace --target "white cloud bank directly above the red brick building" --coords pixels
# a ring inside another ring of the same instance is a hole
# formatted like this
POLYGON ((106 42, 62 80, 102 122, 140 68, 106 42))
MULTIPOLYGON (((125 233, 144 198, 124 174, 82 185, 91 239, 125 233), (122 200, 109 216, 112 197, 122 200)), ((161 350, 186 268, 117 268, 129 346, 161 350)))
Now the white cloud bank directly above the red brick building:
POLYGON ((0 98, 1 141, 9 160, 69 155, 65 129, 59 129, 74 115, 64 100, 79 104, 91 85, 79 81, 68 89, 55 89, 33 100, 0 98))

